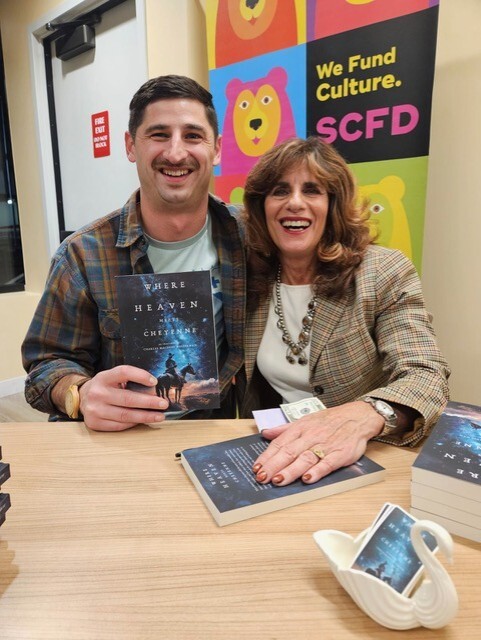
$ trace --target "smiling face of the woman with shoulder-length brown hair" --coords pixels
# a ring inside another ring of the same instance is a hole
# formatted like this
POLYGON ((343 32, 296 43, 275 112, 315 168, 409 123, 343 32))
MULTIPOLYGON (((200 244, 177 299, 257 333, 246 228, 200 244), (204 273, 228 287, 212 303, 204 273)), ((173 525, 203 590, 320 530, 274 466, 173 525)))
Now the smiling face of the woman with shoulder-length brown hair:
POLYGON ((329 196, 301 164, 282 175, 267 195, 264 210, 269 234, 284 257, 311 260, 326 226, 329 196))

